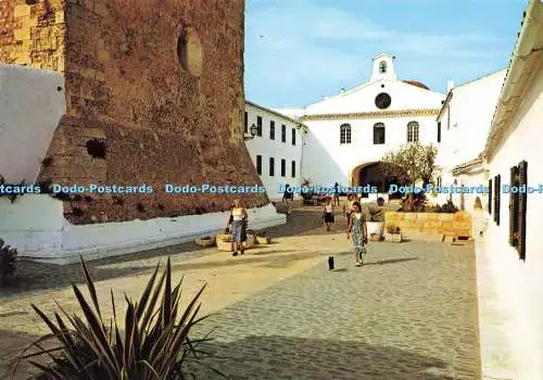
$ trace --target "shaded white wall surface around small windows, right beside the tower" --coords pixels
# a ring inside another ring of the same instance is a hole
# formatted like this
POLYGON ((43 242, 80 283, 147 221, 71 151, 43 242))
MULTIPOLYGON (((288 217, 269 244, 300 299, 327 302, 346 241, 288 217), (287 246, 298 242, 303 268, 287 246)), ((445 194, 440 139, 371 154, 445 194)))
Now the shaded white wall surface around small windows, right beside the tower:
POLYGON ((257 116, 262 117, 262 137, 255 136, 254 139, 245 141, 249 154, 256 167, 256 155, 262 156, 262 174, 261 179, 267 189, 267 194, 270 201, 280 201, 283 193, 279 192, 279 186, 290 185, 300 186, 304 174, 302 173, 302 152, 303 152, 303 134, 295 127, 299 123, 279 117, 270 112, 253 106, 245 105, 248 112, 249 130, 253 124, 256 125, 257 116), (275 140, 270 139, 269 129, 270 121, 275 122, 275 140), (281 141, 281 126, 287 127, 287 139, 281 141), (292 144, 292 130, 295 130, 295 144, 292 144), (274 176, 269 175, 269 159, 275 159, 274 176), (281 160, 286 160, 286 173, 281 176, 281 160), (294 177, 292 177, 291 165, 295 163, 294 177))

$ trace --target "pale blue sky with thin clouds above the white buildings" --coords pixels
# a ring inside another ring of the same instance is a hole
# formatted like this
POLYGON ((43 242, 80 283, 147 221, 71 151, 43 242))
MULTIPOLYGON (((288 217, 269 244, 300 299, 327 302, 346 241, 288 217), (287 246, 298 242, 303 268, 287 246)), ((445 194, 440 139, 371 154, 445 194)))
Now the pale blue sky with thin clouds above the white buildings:
POLYGON ((371 58, 445 92, 506 68, 528 0, 247 0, 245 97, 305 106, 366 83, 371 58))

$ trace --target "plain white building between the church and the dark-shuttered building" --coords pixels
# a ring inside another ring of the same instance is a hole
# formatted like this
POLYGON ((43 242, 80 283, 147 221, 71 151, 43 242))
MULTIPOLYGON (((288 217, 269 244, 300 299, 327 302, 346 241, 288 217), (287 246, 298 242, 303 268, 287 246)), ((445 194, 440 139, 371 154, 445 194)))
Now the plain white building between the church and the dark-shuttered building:
MULTIPOLYGON (((450 83, 449 93, 439 115, 441 130, 440 149, 435 159, 440 186, 479 187, 488 182, 480 153, 484 149, 497 98, 505 79, 506 69, 489 74, 454 87, 450 83)), ((472 210, 475 199, 483 204, 483 193, 453 194, 458 208, 472 210)), ((439 193, 438 203, 444 203, 449 194, 439 193)))

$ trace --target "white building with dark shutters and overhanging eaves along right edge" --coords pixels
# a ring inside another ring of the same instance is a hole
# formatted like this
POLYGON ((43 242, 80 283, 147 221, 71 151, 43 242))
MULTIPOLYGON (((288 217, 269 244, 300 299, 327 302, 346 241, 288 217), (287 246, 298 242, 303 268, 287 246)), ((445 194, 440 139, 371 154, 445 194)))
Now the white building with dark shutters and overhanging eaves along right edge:
POLYGON ((492 193, 489 227, 477 241, 484 378, 543 379, 543 3, 525 13, 483 156, 492 193))

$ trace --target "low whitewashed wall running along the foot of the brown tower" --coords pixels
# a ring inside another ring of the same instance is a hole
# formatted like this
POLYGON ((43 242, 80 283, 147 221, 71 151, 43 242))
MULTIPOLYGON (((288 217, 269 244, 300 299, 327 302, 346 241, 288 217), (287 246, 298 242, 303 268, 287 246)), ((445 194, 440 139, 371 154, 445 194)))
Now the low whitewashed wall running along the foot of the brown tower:
MULTIPOLYGON (((248 213, 251 229, 287 221, 273 204, 248 213)), ((14 203, 0 199, 0 237, 16 246, 20 256, 53 264, 75 263, 79 255, 90 261, 180 244, 224 231, 228 219, 225 212, 74 226, 64 218, 62 202, 45 194, 14 203)))

